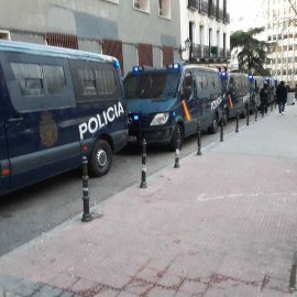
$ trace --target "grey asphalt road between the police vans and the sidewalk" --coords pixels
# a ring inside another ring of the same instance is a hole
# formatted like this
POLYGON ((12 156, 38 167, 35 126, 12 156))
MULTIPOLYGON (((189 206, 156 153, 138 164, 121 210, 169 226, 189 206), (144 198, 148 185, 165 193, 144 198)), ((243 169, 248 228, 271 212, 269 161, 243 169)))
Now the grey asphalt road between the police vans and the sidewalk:
MULTIPOLYGON (((254 120, 254 116, 250 119, 254 120)), ((246 120, 241 119, 240 125, 245 125, 245 122, 246 120)), ((230 120, 224 127, 224 134, 234 133, 234 130, 235 120, 230 120)), ((212 135, 204 133, 201 145, 219 140, 220 131, 212 135)), ((197 152, 196 135, 185 140, 180 166, 183 157, 195 151, 197 152)), ((170 164, 174 166, 174 162, 175 153, 164 147, 147 147, 147 176, 170 164)), ((100 204, 135 183, 141 183, 141 148, 130 143, 113 156, 108 175, 90 179, 90 206, 100 204)), ((75 215, 82 215, 81 197, 80 169, 0 197, 0 256, 75 215)))

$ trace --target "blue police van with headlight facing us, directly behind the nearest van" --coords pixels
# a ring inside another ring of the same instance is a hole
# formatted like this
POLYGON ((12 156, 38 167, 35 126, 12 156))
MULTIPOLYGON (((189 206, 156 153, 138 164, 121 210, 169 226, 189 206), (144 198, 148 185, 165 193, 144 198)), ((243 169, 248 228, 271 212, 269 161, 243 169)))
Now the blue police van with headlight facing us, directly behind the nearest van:
POLYGON ((183 139, 197 132, 197 122, 218 130, 221 80, 210 68, 173 64, 167 68, 134 67, 124 80, 129 135, 174 148, 177 129, 183 139))

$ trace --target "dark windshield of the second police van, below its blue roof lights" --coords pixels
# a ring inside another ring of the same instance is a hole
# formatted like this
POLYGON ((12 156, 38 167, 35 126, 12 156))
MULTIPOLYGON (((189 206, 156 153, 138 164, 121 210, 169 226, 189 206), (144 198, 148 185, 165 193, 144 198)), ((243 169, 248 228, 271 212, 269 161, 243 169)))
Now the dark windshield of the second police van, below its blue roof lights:
POLYGON ((139 73, 124 81, 127 99, 175 97, 178 87, 178 72, 139 73))

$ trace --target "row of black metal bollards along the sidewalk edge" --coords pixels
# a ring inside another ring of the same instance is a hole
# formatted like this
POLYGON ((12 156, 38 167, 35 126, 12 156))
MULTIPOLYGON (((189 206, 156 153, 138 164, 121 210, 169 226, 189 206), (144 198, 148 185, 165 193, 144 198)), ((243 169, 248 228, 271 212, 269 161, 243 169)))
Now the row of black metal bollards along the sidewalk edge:
MULTIPOLYGON (((273 105, 271 105, 271 111, 273 111, 273 105)), ((254 109, 255 113, 255 121, 257 121, 257 108, 254 109)), ((265 109, 262 110, 262 117, 264 117, 265 109)), ((250 112, 248 108, 246 112, 246 125, 250 124, 250 112)), ((223 125, 224 125, 224 111, 222 111, 221 121, 220 121, 220 141, 223 142, 223 125)), ((239 110, 237 111, 237 127, 235 132, 239 132, 239 110)), ((179 168, 179 147, 180 147, 180 130, 177 128, 176 133, 176 144, 175 144, 175 164, 174 168, 179 168)), ((202 155, 201 153, 201 125, 200 121, 197 122, 197 144, 198 144, 198 151, 197 155, 202 155)), ((82 157, 82 201, 84 201, 84 213, 82 213, 82 222, 88 222, 92 219, 91 213, 89 211, 89 187, 88 187, 88 161, 87 157, 82 157)), ((141 169, 141 185, 140 188, 147 188, 146 184, 146 141, 142 141, 142 169, 141 169)))

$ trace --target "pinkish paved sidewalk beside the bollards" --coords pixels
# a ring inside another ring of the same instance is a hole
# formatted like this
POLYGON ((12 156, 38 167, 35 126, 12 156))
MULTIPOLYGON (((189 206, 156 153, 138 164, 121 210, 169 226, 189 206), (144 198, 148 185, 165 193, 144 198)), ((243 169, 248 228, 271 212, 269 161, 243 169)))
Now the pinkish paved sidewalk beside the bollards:
POLYGON ((268 112, 0 257, 0 297, 297 296, 296 143, 268 112))

